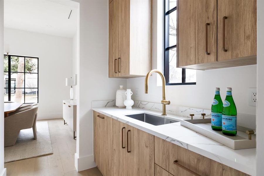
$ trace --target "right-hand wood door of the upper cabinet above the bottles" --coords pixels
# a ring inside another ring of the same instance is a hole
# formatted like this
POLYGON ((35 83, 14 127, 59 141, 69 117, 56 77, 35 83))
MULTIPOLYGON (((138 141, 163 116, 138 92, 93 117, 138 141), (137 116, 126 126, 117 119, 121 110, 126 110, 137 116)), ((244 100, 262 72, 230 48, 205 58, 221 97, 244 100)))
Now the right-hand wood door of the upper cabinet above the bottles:
POLYGON ((256 0, 218 0, 217 60, 228 60, 256 54, 256 0), (224 16, 227 18, 224 19, 224 16))

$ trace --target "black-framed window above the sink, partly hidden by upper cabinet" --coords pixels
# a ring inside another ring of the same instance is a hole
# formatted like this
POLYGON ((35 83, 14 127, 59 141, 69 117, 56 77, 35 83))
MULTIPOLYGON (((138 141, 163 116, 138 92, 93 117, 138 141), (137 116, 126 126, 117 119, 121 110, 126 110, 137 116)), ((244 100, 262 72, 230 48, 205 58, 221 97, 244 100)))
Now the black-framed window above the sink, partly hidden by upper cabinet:
POLYGON ((196 70, 177 68, 177 0, 164 0, 164 76, 166 85, 196 84, 196 70))

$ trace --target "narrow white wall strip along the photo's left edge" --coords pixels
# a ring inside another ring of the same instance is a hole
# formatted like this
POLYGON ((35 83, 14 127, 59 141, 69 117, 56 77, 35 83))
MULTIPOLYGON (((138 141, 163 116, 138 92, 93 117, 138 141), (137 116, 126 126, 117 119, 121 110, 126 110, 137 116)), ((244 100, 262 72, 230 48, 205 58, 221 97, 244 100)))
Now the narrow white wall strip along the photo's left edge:
MULTIPOLYGON (((4 0, 0 0, 0 56, 4 55, 4 0)), ((4 72, 4 58, 0 57, 0 72, 4 72)), ((0 77, 0 87, 4 77, 0 77)), ((4 168, 4 91, 0 91, 0 176, 6 176, 4 168)))

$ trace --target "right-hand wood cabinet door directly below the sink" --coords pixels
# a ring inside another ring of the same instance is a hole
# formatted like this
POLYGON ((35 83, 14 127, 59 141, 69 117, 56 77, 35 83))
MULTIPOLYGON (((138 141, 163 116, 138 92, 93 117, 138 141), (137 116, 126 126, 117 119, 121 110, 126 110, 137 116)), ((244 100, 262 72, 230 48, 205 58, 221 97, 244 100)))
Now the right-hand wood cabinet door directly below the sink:
POLYGON ((129 126, 127 175, 154 176, 154 136, 129 126))

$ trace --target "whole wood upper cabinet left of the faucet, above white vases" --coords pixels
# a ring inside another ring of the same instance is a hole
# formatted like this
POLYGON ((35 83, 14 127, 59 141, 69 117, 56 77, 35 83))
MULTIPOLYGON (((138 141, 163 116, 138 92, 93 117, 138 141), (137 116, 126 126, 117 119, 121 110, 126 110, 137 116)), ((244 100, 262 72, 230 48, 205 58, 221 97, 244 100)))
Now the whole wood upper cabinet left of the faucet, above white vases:
POLYGON ((152 0, 109 2, 109 77, 146 76, 152 66, 152 0))

